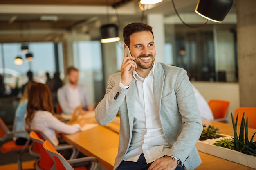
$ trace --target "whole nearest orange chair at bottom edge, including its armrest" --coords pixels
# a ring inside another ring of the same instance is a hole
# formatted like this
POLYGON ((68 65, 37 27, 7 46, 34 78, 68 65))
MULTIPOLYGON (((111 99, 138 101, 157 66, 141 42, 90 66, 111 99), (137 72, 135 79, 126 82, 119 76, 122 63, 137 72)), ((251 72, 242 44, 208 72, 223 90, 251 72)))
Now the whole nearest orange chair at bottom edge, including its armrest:
POLYGON ((55 162, 55 166, 57 170, 88 170, 84 166, 73 168, 70 164, 74 165, 78 163, 81 166, 81 163, 91 163, 90 170, 97 169, 97 159, 94 157, 84 157, 72 160, 66 160, 60 153, 58 153, 52 144, 49 141, 45 141, 43 144, 46 152, 52 157, 55 162))

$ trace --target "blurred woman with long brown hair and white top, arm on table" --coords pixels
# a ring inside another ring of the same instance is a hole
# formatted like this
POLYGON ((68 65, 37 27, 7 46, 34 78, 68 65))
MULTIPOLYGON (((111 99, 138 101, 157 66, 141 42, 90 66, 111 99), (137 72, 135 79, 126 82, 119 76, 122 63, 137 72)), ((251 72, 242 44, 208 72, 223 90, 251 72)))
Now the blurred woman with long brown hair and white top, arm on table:
POLYGON ((79 119, 72 125, 61 122, 54 116, 51 99, 52 94, 46 84, 34 83, 28 95, 25 123, 30 129, 43 131, 49 140, 58 146, 61 133, 73 134, 81 131, 85 120, 79 119))

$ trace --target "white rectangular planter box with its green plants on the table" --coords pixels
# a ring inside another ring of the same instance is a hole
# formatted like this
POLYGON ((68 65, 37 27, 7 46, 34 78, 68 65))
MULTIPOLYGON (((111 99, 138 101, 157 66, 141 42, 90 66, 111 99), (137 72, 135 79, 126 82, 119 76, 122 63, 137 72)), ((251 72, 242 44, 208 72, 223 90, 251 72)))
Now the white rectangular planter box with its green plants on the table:
POLYGON ((248 118, 245 121, 243 114, 238 136, 236 131, 238 116, 236 117, 236 122, 234 121, 232 113, 231 116, 234 130, 233 137, 220 134, 218 128, 214 128, 213 126, 208 126, 206 128, 204 125, 200 140, 196 144, 196 148, 201 152, 221 157, 229 161, 234 161, 251 168, 256 168, 256 142, 253 141, 256 132, 249 140, 248 118))

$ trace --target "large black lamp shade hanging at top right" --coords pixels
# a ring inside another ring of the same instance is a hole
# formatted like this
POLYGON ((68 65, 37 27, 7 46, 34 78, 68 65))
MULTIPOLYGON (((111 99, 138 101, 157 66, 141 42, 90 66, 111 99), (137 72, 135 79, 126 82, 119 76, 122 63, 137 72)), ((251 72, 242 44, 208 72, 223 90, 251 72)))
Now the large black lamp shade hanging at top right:
POLYGON ((231 9, 233 0, 198 0, 195 12, 214 22, 222 22, 231 9))

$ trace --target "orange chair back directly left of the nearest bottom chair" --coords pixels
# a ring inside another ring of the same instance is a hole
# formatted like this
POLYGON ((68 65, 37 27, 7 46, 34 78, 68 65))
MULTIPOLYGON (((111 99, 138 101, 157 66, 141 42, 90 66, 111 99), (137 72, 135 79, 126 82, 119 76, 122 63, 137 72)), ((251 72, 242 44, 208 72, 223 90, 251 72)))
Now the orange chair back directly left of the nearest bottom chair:
POLYGON ((40 150, 40 161, 38 162, 39 168, 43 170, 50 170, 54 165, 54 162, 52 161, 52 158, 43 147, 44 141, 40 139, 40 137, 38 137, 38 135, 34 131, 31 131, 29 133, 29 136, 32 139, 33 143, 38 145, 40 150))

